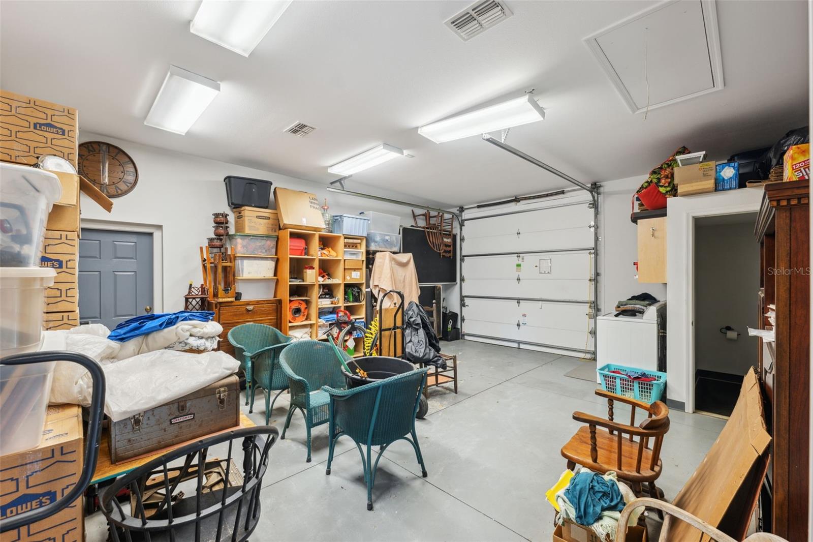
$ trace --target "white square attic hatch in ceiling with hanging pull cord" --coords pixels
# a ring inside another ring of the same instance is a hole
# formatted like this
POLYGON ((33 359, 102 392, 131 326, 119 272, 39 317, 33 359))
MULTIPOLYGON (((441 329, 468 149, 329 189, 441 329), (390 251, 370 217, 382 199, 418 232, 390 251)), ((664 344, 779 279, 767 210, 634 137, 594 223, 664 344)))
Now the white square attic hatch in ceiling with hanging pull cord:
POLYGON ((723 89, 714 0, 669 0, 585 42, 633 113, 723 89))

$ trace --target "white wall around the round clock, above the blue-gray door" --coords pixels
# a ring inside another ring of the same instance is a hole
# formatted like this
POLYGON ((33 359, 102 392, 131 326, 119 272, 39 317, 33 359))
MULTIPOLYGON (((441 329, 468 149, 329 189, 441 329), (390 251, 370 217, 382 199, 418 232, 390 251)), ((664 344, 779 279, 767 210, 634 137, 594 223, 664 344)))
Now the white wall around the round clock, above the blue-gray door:
MULTIPOLYGON (((333 214, 358 214, 379 211, 402 216, 402 224, 412 223, 409 208, 348 195, 330 193, 326 185, 207 160, 197 156, 164 151, 152 146, 82 132, 80 141, 101 140, 120 146, 133 157, 138 168, 138 184, 128 195, 114 199, 113 212, 107 213, 87 196, 82 196, 82 220, 115 221, 137 225, 158 225, 163 230, 163 292, 155 292, 154 306, 164 312, 183 308, 183 296, 189 281, 200 284, 201 266, 198 247, 211 237, 212 212, 228 211, 223 178, 227 175, 254 177, 295 190, 307 190, 320 199, 328 198, 333 214), (163 301, 162 304, 159 301, 163 301)), ((348 190, 363 191, 348 182, 348 190)), ((376 190, 375 195, 393 199, 405 196, 376 190)), ((415 198, 411 198, 415 200, 415 198)), ((414 203, 423 203, 415 201, 414 203)), ((87 224, 90 225, 90 224, 87 224)))

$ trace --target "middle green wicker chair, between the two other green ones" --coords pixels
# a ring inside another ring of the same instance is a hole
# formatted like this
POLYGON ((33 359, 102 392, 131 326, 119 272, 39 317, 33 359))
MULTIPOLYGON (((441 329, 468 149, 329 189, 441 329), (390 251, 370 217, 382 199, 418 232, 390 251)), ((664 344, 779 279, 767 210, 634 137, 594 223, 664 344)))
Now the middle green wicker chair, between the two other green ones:
MULTIPOLYGON (((345 360, 352 359, 342 352, 345 360)), ((296 341, 282 351, 280 365, 290 379, 291 406, 281 439, 291 424, 293 411, 298 409, 305 417, 307 429, 307 462, 311 462, 311 428, 327 423, 330 417, 330 396, 320 387, 345 389, 347 383, 341 372, 336 351, 329 343, 315 340, 296 341)))

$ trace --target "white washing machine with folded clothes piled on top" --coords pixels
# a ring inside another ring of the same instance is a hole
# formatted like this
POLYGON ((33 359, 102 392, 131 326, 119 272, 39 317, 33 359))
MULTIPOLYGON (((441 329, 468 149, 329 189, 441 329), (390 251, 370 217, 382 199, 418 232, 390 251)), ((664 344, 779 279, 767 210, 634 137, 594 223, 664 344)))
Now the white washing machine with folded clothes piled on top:
MULTIPOLYGON (((659 301, 634 317, 615 317, 615 311, 598 317, 596 368, 615 363, 637 369, 658 370, 666 363, 666 301, 659 301)), ((598 383, 601 379, 596 375, 598 383)))

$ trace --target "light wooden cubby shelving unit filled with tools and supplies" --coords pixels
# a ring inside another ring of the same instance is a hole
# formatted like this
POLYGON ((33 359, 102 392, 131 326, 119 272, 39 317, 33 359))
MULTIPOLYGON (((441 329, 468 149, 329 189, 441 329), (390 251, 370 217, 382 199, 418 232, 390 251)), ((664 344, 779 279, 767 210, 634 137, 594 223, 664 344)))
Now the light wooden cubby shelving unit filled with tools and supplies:
POLYGON ((359 244, 361 254, 366 254, 367 239, 363 237, 345 236, 341 234, 328 234, 324 232, 303 231, 299 229, 280 229, 280 236, 276 245, 276 297, 281 299, 282 317, 280 318, 280 330, 289 334, 289 330, 302 326, 310 326, 311 339, 317 337, 319 326, 319 309, 345 308, 356 320, 363 320, 365 317, 363 301, 358 303, 345 303, 345 285, 356 285, 365 290, 364 268, 366 260, 354 260, 361 262, 361 276, 359 281, 345 281, 345 262, 350 260, 345 258, 345 240, 359 244), (305 239, 307 256, 290 256, 290 239, 305 239), (319 247, 329 247, 336 252, 337 256, 319 256, 319 247), (316 271, 317 282, 291 282, 291 278, 303 278, 303 270, 306 265, 312 265, 316 271), (327 273, 334 280, 330 282, 319 282, 320 270, 327 273), (329 288, 333 297, 338 298, 338 303, 329 305, 319 305, 320 287, 329 288), (307 317, 305 321, 289 321, 289 303, 293 299, 301 299, 307 304, 307 317))

